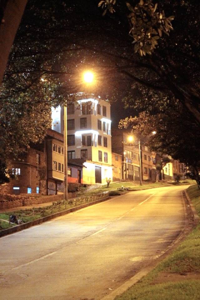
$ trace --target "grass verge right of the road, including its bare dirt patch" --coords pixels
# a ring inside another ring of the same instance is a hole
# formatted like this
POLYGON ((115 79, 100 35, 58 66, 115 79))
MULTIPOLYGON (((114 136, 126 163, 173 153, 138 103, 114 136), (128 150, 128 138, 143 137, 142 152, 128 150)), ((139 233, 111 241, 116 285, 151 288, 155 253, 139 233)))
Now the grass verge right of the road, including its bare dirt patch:
MULTIPOLYGON (((187 192, 200 213, 200 190, 197 185, 187 192)), ((200 225, 147 276, 116 300, 194 300, 200 287, 200 225)))

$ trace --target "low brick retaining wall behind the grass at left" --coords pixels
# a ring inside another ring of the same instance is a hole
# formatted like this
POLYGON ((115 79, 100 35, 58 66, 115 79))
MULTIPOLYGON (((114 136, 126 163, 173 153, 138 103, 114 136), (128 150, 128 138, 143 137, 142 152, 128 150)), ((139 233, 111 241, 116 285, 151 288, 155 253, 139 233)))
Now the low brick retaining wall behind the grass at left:
MULTIPOLYGON (((76 193, 68 193, 68 198, 74 198, 76 195, 76 193)), ((0 194, 0 210, 61 200, 63 200, 63 194, 50 196, 0 194)))

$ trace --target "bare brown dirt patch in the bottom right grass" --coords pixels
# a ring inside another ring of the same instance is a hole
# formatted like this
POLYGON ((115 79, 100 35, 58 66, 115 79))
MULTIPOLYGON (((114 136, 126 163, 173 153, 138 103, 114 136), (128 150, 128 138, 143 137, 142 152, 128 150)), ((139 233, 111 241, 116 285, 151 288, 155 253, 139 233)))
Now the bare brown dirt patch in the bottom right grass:
POLYGON ((183 280, 200 280, 200 272, 184 272, 184 273, 168 273, 161 272, 158 277, 151 284, 165 283, 169 281, 183 281, 183 280))

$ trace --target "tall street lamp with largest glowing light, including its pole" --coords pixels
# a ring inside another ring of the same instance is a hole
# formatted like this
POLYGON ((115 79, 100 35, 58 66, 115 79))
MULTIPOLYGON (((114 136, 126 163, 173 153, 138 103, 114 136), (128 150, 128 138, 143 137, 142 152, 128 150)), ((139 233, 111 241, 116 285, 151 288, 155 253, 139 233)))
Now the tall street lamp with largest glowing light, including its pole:
MULTIPOLYGON (((83 73, 83 81, 92 83, 94 74, 91 71, 83 73)), ((64 201, 68 200, 68 143, 67 143, 67 105, 64 104, 64 201)))

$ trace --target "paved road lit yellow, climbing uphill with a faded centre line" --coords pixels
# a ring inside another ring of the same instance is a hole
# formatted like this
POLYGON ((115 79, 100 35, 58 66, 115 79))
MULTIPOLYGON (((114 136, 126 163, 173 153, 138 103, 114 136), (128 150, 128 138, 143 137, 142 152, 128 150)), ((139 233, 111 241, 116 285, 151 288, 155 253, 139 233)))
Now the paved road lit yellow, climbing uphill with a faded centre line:
POLYGON ((183 230, 184 188, 129 192, 0 238, 1 299, 101 299, 183 230))

